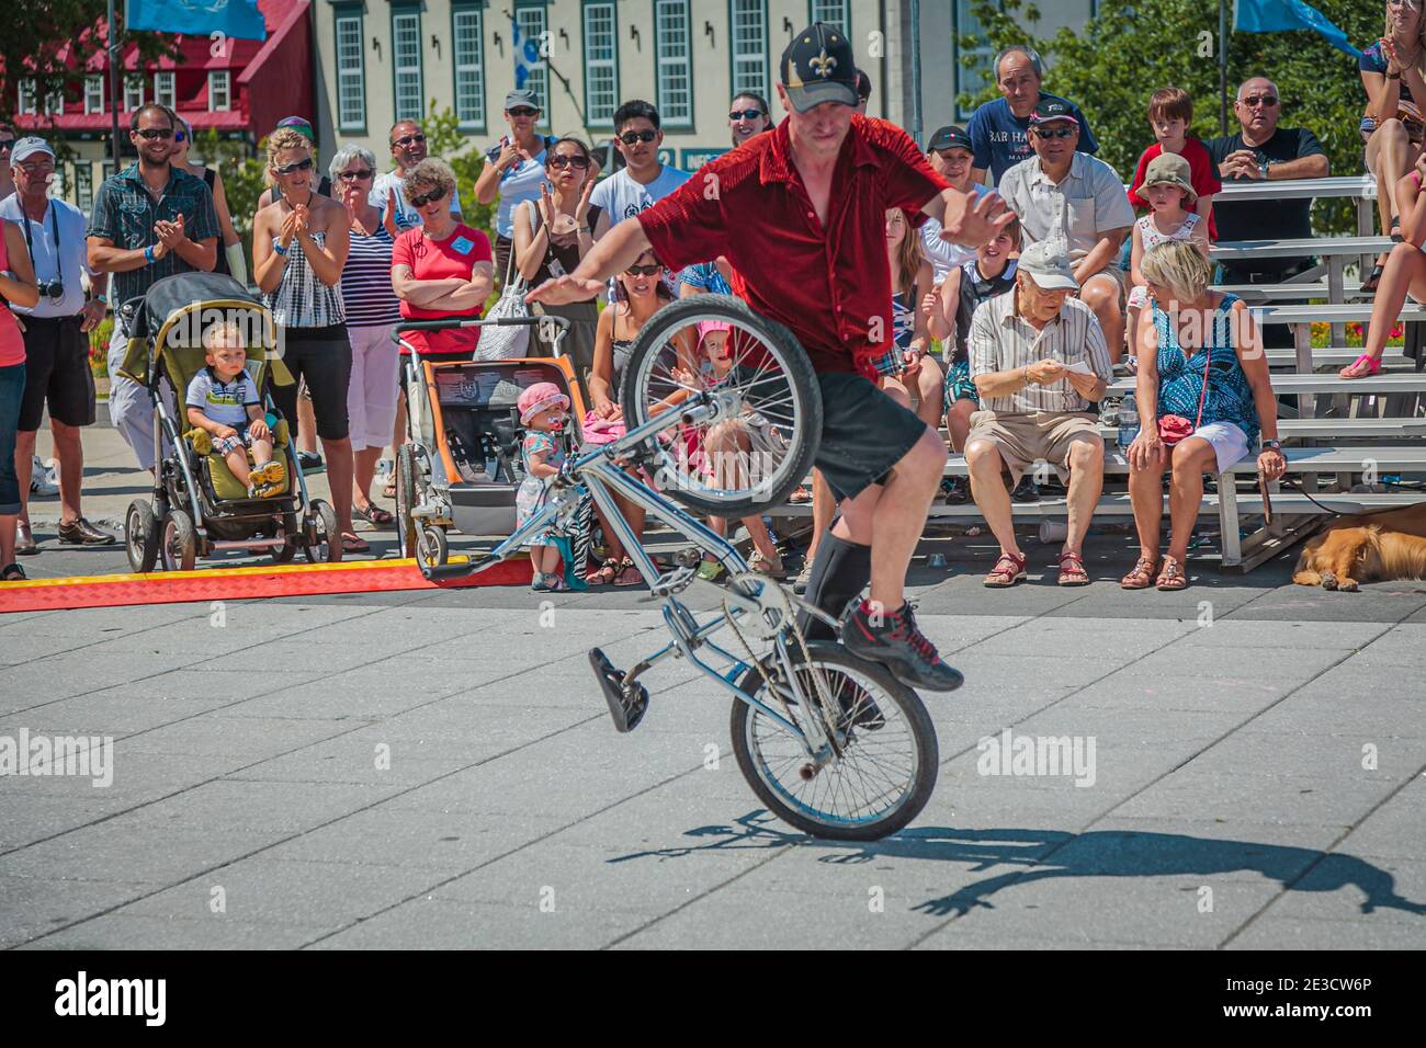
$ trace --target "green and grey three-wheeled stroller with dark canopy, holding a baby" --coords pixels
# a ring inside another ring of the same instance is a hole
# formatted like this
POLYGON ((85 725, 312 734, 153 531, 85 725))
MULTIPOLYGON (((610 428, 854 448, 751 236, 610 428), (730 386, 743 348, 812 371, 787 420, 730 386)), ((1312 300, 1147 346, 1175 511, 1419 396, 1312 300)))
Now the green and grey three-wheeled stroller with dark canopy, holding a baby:
POLYGON ((134 499, 124 519, 128 563, 135 572, 190 570, 200 556, 222 549, 265 548, 278 563, 297 555, 317 563, 341 560, 337 515, 311 499, 289 439, 272 404, 270 384, 291 385, 267 308, 231 277, 188 272, 155 281, 143 298, 124 304, 128 348, 123 375, 148 389, 154 402, 154 490, 134 499), (188 382, 204 368, 202 332, 235 324, 244 332, 247 369, 262 391, 274 453, 287 465, 282 490, 250 498, 228 472, 202 429, 188 426, 183 406, 188 382), (175 399, 174 399, 175 398, 175 399))

